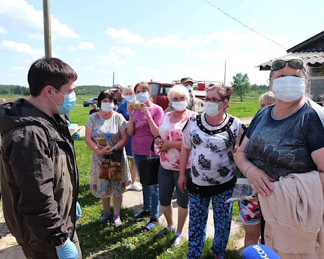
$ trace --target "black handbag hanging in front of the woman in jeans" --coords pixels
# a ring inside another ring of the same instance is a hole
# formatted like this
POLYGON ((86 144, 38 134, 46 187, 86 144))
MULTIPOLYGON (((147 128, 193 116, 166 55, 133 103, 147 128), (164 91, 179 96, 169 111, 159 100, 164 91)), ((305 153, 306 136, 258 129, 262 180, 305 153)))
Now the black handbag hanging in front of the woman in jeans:
POLYGON ((157 174, 160 166, 160 157, 152 158, 152 153, 154 151, 154 141, 157 137, 153 139, 149 158, 147 160, 138 161, 141 184, 145 184, 145 185, 157 184, 157 174))

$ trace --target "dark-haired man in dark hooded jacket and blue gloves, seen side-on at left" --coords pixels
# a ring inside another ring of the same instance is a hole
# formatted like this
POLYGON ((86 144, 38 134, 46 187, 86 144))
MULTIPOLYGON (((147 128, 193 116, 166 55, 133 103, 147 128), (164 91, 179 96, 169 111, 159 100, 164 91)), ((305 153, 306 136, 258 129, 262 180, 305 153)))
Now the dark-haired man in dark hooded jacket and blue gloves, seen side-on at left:
POLYGON ((35 61, 30 95, 0 105, 3 212, 27 258, 82 258, 75 232, 78 169, 62 114, 75 104, 73 68, 35 61))

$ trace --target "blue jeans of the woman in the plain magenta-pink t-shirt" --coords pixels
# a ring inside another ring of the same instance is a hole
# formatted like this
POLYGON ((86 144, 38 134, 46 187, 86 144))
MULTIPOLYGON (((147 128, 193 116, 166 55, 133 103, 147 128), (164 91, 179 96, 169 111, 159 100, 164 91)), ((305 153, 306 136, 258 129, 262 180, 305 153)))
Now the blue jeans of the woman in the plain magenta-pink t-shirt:
MULTIPOLYGON (((158 157, 157 155, 152 155, 152 157, 158 157)), ((136 167, 137 173, 140 176, 138 161, 148 159, 148 155, 137 155, 133 153, 134 165, 136 167)), ((158 184, 155 185, 145 185, 142 184, 143 191, 143 209, 145 211, 151 211, 151 218, 159 217, 159 187, 158 184)))

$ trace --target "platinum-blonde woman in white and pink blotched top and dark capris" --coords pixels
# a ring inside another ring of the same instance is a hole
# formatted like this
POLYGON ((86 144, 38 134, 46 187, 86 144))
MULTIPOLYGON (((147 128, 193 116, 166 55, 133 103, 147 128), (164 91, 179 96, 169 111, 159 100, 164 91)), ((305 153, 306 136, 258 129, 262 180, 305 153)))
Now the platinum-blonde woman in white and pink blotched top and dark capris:
MULTIPOLYGON (((189 92, 183 85, 174 85, 168 92, 168 99, 175 109, 164 115, 161 126, 159 127, 159 136, 155 143, 160 151, 160 168, 158 173, 159 201, 161 209, 168 226, 156 232, 157 236, 164 235, 167 232, 175 232, 173 237, 173 246, 181 244, 182 228, 189 212, 189 194, 185 190, 182 193, 178 187, 179 169, 180 169, 180 151, 182 144, 182 129, 188 119, 197 113, 188 110, 189 92), (177 191, 178 203, 178 226, 177 232, 172 220, 172 195, 174 187, 177 191)), ((190 174, 190 158, 186 167, 186 177, 190 174)))

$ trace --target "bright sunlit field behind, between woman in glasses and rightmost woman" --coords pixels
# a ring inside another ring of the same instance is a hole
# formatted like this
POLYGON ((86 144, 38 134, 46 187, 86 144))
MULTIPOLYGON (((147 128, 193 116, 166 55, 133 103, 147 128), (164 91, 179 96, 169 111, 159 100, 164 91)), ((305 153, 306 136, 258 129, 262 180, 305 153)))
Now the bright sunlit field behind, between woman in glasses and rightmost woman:
POLYGON ((259 99, 230 99, 227 112, 237 118, 253 117, 259 109, 259 99))

